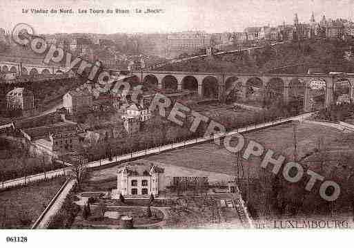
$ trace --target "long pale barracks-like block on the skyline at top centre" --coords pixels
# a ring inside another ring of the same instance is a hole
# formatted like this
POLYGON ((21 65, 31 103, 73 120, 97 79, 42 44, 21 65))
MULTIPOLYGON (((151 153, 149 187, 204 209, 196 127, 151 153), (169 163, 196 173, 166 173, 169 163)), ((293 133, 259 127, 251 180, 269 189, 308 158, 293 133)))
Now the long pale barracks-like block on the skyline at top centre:
POLYGON ((176 32, 167 36, 168 53, 193 51, 211 46, 211 35, 206 32, 176 32))

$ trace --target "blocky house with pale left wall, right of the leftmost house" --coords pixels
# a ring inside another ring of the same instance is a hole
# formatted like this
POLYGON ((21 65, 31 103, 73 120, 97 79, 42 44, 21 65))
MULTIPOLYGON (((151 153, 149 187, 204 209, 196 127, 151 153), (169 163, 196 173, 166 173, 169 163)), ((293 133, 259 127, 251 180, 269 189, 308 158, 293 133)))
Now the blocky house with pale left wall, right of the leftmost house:
POLYGON ((63 107, 70 114, 89 112, 92 106, 92 93, 87 88, 70 90, 63 95, 63 107))

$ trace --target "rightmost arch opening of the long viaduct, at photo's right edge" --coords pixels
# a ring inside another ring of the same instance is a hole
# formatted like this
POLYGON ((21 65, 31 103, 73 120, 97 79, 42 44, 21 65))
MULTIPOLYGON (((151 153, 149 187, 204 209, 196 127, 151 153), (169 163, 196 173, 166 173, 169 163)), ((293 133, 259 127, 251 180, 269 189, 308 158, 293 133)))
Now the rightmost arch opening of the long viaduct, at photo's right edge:
POLYGON ((336 78, 333 84, 333 102, 335 104, 351 103, 353 85, 346 78, 336 78))

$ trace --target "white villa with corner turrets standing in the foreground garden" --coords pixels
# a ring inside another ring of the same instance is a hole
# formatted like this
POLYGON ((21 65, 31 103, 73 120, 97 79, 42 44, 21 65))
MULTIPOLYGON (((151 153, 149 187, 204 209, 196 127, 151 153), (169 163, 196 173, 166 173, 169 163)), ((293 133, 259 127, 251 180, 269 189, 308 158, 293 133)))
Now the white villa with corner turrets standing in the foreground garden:
POLYGON ((153 163, 130 163, 118 171, 118 194, 132 197, 157 196, 164 188, 164 169, 153 163))

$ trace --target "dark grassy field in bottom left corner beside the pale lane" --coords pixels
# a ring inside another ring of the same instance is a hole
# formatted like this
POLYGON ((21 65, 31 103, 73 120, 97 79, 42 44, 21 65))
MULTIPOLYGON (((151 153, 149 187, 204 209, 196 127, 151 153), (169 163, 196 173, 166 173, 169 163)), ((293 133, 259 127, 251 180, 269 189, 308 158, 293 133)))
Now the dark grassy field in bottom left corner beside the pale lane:
POLYGON ((30 228, 64 181, 55 178, 0 192, 0 228, 30 228))

